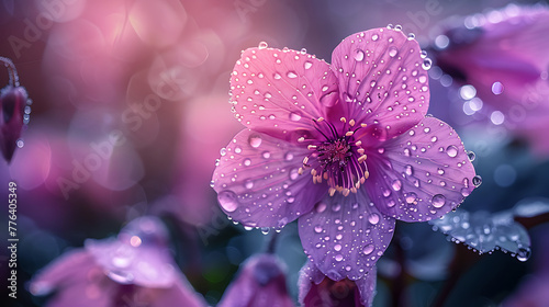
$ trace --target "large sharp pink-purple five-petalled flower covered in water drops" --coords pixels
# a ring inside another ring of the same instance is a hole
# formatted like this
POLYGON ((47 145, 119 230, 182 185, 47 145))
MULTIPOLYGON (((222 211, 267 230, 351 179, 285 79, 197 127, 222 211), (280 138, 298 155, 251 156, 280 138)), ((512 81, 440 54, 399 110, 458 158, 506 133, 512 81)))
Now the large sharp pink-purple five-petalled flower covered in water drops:
POLYGON ((415 39, 389 27, 357 33, 332 65, 264 44, 234 68, 231 102, 247 128, 222 149, 212 181, 235 221, 299 218, 316 268, 355 281, 383 254, 395 219, 439 218, 474 189, 457 133, 425 116, 430 60, 415 39))

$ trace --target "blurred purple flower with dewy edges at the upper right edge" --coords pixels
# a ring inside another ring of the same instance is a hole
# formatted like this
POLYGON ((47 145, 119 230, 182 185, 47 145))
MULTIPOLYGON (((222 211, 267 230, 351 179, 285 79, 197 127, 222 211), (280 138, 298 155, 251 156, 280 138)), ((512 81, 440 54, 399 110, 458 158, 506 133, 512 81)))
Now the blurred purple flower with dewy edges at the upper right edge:
POLYGON ((540 133, 549 116, 549 9, 509 4, 442 27, 434 58, 471 100, 467 112, 484 113, 549 154, 540 133))

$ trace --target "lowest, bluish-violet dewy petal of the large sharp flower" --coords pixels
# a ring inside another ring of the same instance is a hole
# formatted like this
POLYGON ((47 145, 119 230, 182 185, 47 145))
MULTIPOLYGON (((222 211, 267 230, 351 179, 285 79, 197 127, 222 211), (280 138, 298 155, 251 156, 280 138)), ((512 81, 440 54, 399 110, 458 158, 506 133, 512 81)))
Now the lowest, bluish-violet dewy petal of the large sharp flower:
POLYGON ((299 219, 305 253, 334 281, 362 278, 385 251, 393 230, 394 219, 383 215, 363 189, 326 196, 299 219))

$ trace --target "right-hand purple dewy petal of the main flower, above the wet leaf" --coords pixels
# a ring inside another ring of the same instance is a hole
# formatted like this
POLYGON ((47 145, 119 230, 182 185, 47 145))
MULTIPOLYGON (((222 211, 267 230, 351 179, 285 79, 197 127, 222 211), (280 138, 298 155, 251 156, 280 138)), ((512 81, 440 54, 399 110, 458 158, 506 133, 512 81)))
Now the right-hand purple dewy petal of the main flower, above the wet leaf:
POLYGON ((367 152, 366 186, 376 206, 396 219, 441 217, 480 184, 458 134, 437 118, 425 117, 382 146, 367 152))

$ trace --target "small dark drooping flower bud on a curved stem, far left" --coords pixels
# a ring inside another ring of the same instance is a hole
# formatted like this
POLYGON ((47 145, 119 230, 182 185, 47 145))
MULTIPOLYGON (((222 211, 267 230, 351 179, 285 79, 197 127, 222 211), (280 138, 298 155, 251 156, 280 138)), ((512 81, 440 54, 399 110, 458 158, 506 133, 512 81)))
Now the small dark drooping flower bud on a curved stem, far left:
POLYGON ((8 68, 10 75, 10 83, 0 91, 0 150, 10 162, 25 123, 23 114, 29 96, 25 89, 19 86, 13 62, 4 57, 0 57, 0 62, 8 68))

